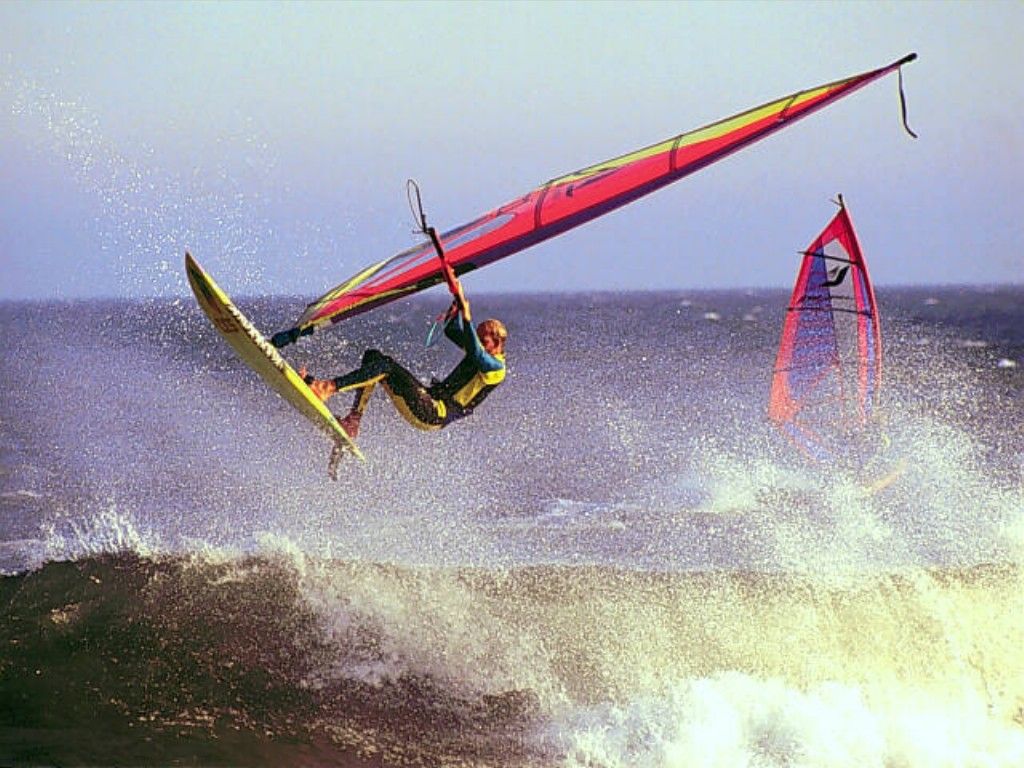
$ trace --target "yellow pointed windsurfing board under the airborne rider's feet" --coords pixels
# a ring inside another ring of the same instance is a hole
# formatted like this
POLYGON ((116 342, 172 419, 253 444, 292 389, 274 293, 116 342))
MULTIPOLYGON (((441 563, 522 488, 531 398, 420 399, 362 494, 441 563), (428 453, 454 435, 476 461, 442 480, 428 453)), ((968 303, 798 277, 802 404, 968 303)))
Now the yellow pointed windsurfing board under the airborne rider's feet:
POLYGON ((359 447, 338 423, 334 414, 188 253, 185 254, 185 273, 193 293, 196 294, 196 301, 246 365, 334 441, 335 452, 330 465, 332 476, 341 452, 347 451, 362 460, 359 447))

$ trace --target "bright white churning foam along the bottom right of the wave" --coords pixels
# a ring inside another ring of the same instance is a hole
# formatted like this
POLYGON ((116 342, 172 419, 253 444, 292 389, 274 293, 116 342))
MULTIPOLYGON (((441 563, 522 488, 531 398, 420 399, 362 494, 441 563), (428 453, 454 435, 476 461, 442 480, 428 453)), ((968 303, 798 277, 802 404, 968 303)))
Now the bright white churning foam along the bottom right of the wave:
POLYGON ((566 711, 538 735, 571 768, 943 768, 1024 764, 1024 731, 975 695, 797 689, 741 673, 566 711))

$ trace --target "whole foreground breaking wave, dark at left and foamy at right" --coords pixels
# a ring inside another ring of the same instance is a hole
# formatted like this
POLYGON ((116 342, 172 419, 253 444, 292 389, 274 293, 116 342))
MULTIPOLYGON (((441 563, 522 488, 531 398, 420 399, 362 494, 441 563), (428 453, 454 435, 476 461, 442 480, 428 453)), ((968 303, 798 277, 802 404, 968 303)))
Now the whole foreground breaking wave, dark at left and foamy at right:
POLYGON ((1009 766, 1022 587, 1012 567, 822 585, 284 554, 50 563, 0 582, 0 759, 674 765, 731 744, 784 765, 830 744, 838 762, 813 763, 830 766, 874 738, 916 766, 931 718, 956 724, 953 755, 1009 766))

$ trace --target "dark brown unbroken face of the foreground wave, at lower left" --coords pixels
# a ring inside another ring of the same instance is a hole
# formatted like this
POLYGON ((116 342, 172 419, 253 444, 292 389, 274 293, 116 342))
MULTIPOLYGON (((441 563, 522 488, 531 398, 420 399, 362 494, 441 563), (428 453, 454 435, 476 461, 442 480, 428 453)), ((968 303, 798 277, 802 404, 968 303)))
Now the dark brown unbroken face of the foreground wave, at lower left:
POLYGON ((371 617, 326 627, 282 562, 51 563, 4 579, 0 600, 4 762, 512 760, 538 707, 530 691, 386 673, 371 617))

